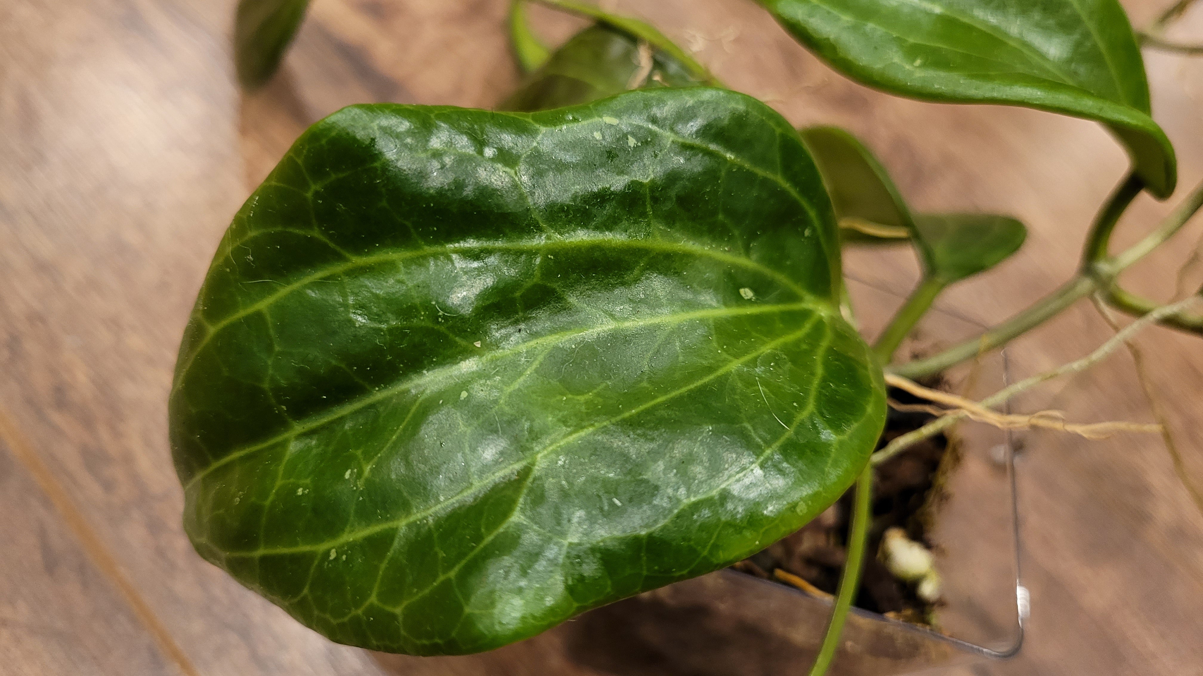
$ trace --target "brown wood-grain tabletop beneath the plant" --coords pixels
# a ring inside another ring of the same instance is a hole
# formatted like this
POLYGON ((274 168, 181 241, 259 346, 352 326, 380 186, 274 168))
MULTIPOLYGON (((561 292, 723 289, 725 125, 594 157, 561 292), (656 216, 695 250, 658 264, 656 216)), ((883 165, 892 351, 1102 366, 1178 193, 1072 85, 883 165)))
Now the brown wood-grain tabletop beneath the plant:
MULTIPOLYGON (((1127 7, 1140 25, 1165 4, 1127 7)), ((918 207, 1024 219, 1019 255, 938 303, 977 321, 1003 319, 1073 273, 1086 223, 1125 170, 1091 123, 854 85, 751 0, 612 5, 792 121, 863 135, 918 207)), ((505 0, 314 0, 283 71, 244 97, 230 58, 233 0, 0 0, 0 675, 593 674, 553 636, 454 659, 327 642, 191 551, 167 449, 180 332, 251 188, 340 106, 496 103, 518 77, 505 10, 505 0)), ((552 36, 577 25, 537 18, 552 36)), ((1203 36, 1203 11, 1179 32, 1203 36)), ((1146 53, 1146 64, 1155 117, 1190 186, 1203 177, 1203 59, 1146 53)), ((1169 207, 1140 197, 1121 243, 1169 207)), ((1128 284, 1167 298, 1201 231, 1203 219, 1128 284)), ((906 251, 857 253, 848 271, 897 292, 917 274, 906 251)), ((1079 303, 1017 344, 1015 368, 1049 368, 1108 334, 1079 303)), ((1187 469, 1203 480, 1203 342, 1155 328, 1140 343, 1187 469)), ((1150 420, 1122 352, 1023 402, 1049 405, 1081 421, 1150 420)), ((1029 641, 1014 660, 956 672, 1203 674, 1203 517, 1160 439, 1047 433, 1026 445, 1029 641)))

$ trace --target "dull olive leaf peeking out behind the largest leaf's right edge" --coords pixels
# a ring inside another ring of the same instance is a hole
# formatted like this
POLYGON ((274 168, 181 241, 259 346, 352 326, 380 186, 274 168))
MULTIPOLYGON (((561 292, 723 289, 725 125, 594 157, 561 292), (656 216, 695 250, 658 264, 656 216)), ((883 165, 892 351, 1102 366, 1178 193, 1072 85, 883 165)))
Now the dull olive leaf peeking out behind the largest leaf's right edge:
POLYGON ((911 209, 872 150, 836 126, 812 126, 801 135, 831 196, 841 237, 876 244, 911 237, 911 209))

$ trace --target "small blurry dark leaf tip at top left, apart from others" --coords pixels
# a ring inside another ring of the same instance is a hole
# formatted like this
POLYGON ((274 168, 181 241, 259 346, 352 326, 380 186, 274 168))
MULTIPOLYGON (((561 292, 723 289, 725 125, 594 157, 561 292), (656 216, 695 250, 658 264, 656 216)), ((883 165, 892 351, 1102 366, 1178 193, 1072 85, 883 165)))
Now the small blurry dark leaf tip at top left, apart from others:
POLYGON ((235 18, 233 51, 238 81, 254 88, 279 67, 301 26, 309 0, 242 0, 235 18))

